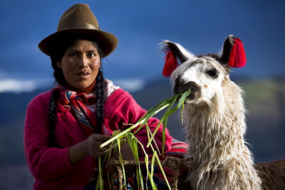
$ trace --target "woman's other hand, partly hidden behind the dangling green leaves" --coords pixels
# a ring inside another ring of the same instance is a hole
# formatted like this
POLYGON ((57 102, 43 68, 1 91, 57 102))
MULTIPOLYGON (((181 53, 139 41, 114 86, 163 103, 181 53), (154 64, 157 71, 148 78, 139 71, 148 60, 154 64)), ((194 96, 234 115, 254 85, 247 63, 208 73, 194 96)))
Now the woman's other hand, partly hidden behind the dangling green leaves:
MULTIPOLYGON (((128 160, 128 161, 135 161, 135 156, 131 150, 131 147, 129 143, 124 144, 121 146, 121 154, 123 160, 128 160)), ((119 160, 119 150, 117 150, 113 156, 116 160, 119 160)), ((138 155, 141 155, 141 147, 138 147, 138 155)), ((124 165, 126 170, 129 170, 133 167, 133 165, 124 165)), ((115 172, 115 167, 111 167, 109 164, 105 166, 105 168, 109 168, 110 172, 113 173, 115 172)))

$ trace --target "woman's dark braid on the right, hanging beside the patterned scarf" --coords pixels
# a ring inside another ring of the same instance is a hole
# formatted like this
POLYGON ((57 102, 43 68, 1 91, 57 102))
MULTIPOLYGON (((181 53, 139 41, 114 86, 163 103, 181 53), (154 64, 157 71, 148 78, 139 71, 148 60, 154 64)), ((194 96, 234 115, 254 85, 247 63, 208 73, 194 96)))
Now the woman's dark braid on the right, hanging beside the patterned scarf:
POLYGON ((99 70, 97 77, 96 77, 96 98, 97 98, 97 104, 96 104, 96 127, 95 127, 95 133, 101 133, 101 128, 103 125, 103 116, 104 116, 104 102, 105 102, 105 94, 104 94, 104 77, 102 71, 99 70))

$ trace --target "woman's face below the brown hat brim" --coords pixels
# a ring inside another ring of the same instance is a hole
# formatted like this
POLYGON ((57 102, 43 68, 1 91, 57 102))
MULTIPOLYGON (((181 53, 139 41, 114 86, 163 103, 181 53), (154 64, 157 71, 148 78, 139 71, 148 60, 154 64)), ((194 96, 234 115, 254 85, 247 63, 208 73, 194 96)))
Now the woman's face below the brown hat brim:
POLYGON ((68 84, 87 88, 95 80, 101 63, 97 48, 91 41, 80 40, 67 48, 62 59, 56 62, 68 84))

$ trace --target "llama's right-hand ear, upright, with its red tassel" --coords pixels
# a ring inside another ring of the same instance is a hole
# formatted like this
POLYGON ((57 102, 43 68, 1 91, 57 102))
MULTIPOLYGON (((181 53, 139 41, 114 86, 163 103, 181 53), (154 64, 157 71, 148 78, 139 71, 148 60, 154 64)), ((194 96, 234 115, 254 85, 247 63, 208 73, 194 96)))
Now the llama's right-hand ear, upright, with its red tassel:
POLYGON ((247 62, 243 42, 233 35, 227 36, 218 56, 222 64, 230 67, 244 67, 247 62))

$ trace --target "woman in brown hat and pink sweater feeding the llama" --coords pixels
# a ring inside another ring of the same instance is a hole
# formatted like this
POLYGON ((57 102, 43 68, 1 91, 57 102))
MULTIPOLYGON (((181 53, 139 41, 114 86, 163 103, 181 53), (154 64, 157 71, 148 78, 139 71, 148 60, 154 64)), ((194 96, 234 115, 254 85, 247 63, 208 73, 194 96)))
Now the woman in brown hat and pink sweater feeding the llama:
MULTIPOLYGON (((27 108, 24 148, 35 177, 34 189, 92 186, 98 176, 96 158, 107 150, 99 145, 113 131, 124 130, 128 126, 124 123, 134 124, 146 112, 128 92, 103 79, 101 59, 117 43, 116 36, 100 30, 86 4, 70 7, 60 18, 57 32, 40 42, 40 50, 51 57, 58 86, 36 96, 27 108)), ((156 118, 148 121, 152 131, 157 123, 156 118)), ((135 136, 145 147, 146 129, 135 136)), ((155 140, 161 151, 161 126, 155 140)), ((166 130, 166 151, 171 141, 166 130)), ((124 160, 134 160, 128 143, 121 152, 124 160)), ((143 156, 140 147, 138 152, 143 156)), ((146 152, 152 150, 146 148, 146 152)))

